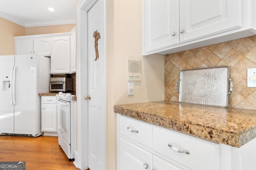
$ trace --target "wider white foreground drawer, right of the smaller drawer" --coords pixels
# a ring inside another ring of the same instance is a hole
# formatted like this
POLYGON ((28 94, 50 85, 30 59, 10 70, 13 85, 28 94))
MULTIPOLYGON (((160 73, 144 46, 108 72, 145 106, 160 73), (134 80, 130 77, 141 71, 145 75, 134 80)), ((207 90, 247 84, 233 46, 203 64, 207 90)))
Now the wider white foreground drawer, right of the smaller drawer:
POLYGON ((191 169, 219 169, 220 145, 217 143, 153 126, 152 147, 156 152, 191 169), (168 144, 173 146, 172 149, 168 144), (188 150, 190 154, 177 152, 178 149, 188 150))

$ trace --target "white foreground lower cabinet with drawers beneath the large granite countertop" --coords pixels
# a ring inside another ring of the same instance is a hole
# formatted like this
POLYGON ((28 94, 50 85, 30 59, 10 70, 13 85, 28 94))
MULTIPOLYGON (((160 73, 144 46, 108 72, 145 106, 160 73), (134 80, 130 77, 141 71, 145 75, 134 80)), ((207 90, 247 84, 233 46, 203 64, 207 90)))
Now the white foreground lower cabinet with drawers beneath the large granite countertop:
POLYGON ((117 146, 118 170, 255 170, 256 138, 235 148, 120 114, 117 146))

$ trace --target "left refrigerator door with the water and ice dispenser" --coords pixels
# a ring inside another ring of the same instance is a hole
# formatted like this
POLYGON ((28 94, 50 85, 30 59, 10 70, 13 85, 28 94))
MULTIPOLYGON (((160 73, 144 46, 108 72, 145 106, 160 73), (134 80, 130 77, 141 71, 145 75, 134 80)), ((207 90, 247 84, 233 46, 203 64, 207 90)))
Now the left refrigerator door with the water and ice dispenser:
POLYGON ((14 133, 11 83, 14 56, 0 56, 0 133, 14 133))

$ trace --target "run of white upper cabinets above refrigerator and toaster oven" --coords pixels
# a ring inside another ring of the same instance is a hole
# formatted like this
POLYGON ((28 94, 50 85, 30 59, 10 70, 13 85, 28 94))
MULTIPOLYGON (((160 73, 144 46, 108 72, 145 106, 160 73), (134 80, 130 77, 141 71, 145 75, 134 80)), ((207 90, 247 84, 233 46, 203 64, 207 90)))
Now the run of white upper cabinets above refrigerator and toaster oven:
POLYGON ((51 74, 76 72, 76 27, 69 33, 14 37, 15 55, 51 57, 51 74))

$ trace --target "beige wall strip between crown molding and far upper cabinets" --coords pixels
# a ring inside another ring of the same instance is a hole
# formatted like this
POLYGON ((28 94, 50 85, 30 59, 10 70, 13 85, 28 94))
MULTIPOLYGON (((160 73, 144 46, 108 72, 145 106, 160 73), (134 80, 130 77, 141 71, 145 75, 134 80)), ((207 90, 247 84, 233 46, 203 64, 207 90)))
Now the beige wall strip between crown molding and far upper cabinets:
POLYGON ((25 35, 38 35, 50 33, 67 33, 70 32, 76 24, 49 25, 40 27, 26 27, 25 35))

